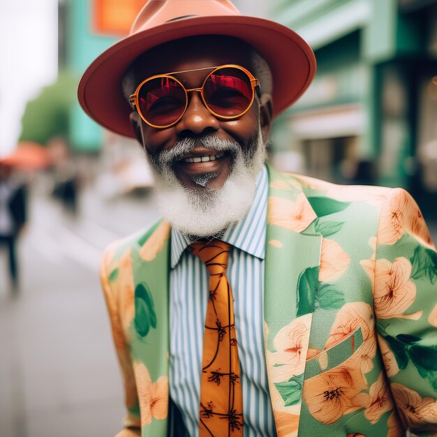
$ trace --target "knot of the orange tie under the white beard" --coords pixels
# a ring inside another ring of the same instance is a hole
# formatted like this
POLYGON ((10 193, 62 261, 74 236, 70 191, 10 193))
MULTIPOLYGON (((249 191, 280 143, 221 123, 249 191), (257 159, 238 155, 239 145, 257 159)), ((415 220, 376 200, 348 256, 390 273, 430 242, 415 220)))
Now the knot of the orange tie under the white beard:
POLYGON ((210 242, 193 242, 190 244, 193 255, 198 256, 212 274, 224 274, 228 267, 230 244, 219 239, 210 242))

